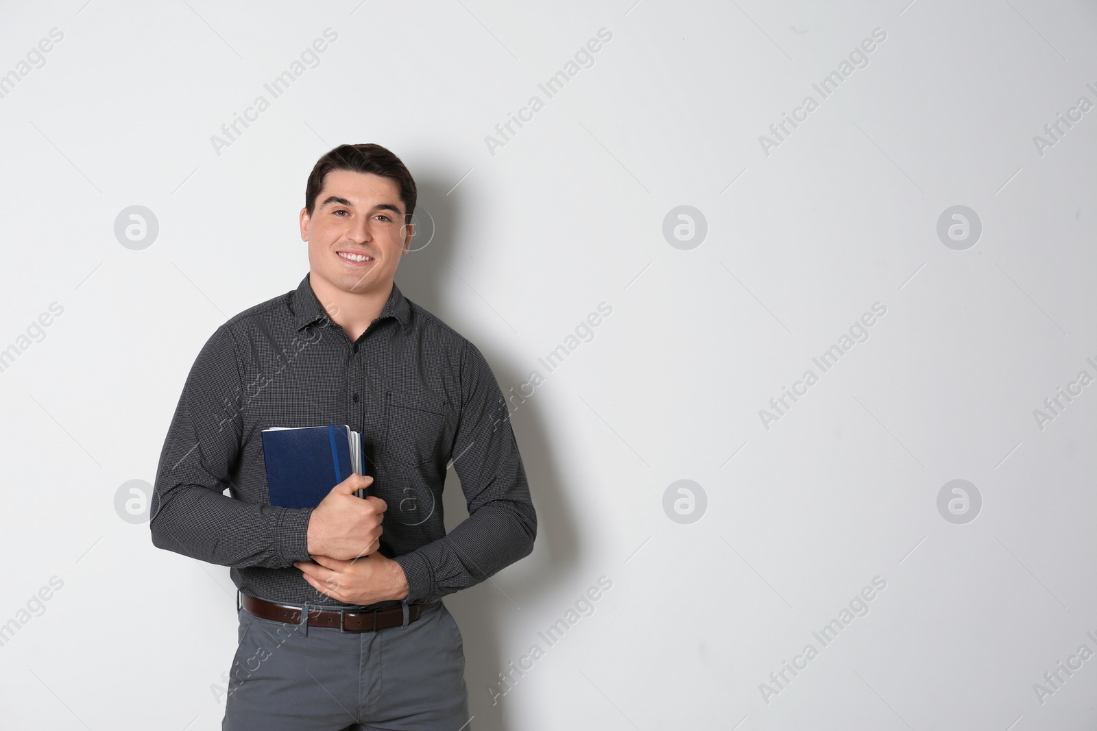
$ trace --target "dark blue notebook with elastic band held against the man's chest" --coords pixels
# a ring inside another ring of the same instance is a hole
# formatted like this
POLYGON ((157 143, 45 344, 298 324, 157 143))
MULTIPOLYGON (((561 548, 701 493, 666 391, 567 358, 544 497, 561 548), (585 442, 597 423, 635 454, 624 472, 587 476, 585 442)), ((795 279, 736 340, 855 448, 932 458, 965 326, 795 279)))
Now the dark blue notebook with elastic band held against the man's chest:
POLYGON ((347 424, 274 426, 262 431, 262 439, 271 505, 316 507, 352 473, 364 475, 362 433, 347 424))

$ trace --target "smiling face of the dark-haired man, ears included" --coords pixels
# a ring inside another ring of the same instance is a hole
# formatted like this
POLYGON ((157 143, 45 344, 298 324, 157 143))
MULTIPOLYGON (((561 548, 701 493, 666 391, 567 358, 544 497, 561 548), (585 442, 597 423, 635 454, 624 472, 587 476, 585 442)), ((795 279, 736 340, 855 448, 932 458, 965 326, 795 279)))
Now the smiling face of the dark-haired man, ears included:
POLYGON ((414 226, 404 226, 404 212, 399 187, 391 178, 329 172, 313 215, 301 210, 312 276, 352 294, 387 288, 414 233, 414 226), (354 261, 363 255, 365 261, 354 261))

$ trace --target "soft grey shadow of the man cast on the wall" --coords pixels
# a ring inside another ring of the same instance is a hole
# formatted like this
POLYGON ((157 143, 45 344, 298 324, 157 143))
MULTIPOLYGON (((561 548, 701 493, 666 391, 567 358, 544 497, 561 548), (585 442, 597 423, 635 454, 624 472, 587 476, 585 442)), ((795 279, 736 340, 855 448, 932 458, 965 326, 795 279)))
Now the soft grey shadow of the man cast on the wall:
MULTIPOLYGON (((432 175, 430 172, 419 172, 416 175, 419 199, 414 220, 417 230, 412 239, 412 251, 404 256, 396 278, 400 292, 408 298, 475 343, 491 366, 499 388, 508 396, 511 386, 517 387, 527 380, 533 358, 531 356, 531 363, 507 362, 488 343, 476 342, 475 338, 468 335, 462 327, 465 323, 456 316, 451 317, 455 310, 453 304, 459 299, 472 300, 473 310, 480 312, 478 317, 495 319, 497 316, 461 278, 464 277, 475 286, 475 282, 479 279, 475 272, 461 271, 461 276, 454 272, 454 269, 460 271, 460 267, 453 262, 461 261, 456 256, 461 243, 455 236, 461 228, 460 189, 446 195, 453 183, 448 178, 445 181, 442 178, 441 174, 432 175)), ((473 237, 466 237, 471 238, 473 237)), ((519 276, 519 273, 516 272, 514 275, 519 276)), ((498 309, 504 317, 507 316, 505 302, 491 302, 491 307, 498 309)), ((509 318, 508 321, 520 331, 518 323, 509 318)), ((536 606, 545 596, 553 595, 557 587, 566 585, 567 576, 581 549, 575 534, 572 506, 562 490, 556 472, 557 461, 553 457, 539 407, 534 395, 521 404, 511 421, 530 483, 533 506, 538 513, 538 537, 533 553, 504 570, 507 579, 502 589, 496 585, 499 582, 484 581, 445 597, 445 606, 456 619, 464 639, 468 711, 474 720, 463 731, 513 731, 517 728, 512 722, 508 723, 510 713, 507 708, 530 693, 533 685, 531 681, 534 678, 523 677, 505 697, 495 698, 493 704, 488 687, 498 688, 499 673, 507 669, 508 663, 518 659, 517 654, 508 656, 500 647, 499 628, 518 624, 523 614, 532 614, 528 612, 530 607, 536 606)), ((514 411, 513 406, 510 409, 514 411)), ((446 475, 442 506, 448 530, 452 530, 468 515, 460 481, 452 467, 446 475)), ((514 647, 519 654, 538 641, 536 631, 532 627, 522 631, 528 631, 530 637, 516 638, 514 647)), ((535 675, 535 672, 534 667, 531 674, 535 675)))

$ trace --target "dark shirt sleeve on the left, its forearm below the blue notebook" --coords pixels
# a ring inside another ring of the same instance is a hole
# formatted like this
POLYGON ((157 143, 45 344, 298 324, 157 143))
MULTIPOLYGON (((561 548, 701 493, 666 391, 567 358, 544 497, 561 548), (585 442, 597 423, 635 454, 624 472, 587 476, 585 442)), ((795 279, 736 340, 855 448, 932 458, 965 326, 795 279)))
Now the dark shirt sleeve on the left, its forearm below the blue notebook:
POLYGON ((244 382, 228 323, 206 341, 183 386, 156 470, 152 545, 234 568, 285 568, 308 559, 310 509, 222 494, 241 450, 244 382))

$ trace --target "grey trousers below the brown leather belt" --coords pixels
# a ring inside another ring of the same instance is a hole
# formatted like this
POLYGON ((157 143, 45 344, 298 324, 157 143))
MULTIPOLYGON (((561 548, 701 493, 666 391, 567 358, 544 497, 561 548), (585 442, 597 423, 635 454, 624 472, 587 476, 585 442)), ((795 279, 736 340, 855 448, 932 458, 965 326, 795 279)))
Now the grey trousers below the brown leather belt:
POLYGON ((461 631, 441 602, 340 632, 238 613, 225 731, 471 731, 461 631))

